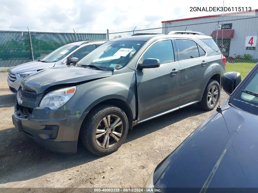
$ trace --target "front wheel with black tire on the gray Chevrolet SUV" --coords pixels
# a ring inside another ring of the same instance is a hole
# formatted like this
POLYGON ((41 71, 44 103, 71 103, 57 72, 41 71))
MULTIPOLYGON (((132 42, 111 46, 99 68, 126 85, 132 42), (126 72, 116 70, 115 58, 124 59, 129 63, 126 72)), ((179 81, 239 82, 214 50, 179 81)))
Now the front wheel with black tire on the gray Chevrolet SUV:
POLYGON ((113 105, 93 109, 81 126, 82 143, 96 155, 108 155, 125 141, 129 124, 125 112, 113 105))

